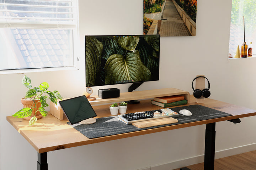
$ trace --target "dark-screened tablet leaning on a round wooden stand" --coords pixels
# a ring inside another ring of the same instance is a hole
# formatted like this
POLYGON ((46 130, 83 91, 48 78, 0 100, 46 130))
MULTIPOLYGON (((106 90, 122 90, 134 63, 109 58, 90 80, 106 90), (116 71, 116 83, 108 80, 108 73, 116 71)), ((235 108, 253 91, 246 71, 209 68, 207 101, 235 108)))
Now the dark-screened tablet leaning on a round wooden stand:
POLYGON ((97 116, 84 95, 59 101, 59 104, 71 125, 97 116))

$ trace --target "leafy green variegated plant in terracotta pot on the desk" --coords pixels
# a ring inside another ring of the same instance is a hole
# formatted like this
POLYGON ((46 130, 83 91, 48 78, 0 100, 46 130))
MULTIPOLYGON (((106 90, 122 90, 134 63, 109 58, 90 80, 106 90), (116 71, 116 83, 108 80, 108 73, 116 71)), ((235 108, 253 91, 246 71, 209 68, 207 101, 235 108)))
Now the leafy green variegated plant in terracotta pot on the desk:
POLYGON ((47 90, 49 84, 46 82, 41 83, 39 87, 32 88, 31 79, 25 75, 22 79, 22 84, 29 88, 25 97, 21 99, 24 108, 12 116, 30 120, 28 125, 33 125, 37 119, 41 119, 47 115, 48 112, 44 109, 49 106, 47 100, 50 99, 55 104, 57 104, 57 99, 62 100, 62 96, 57 90, 53 92, 47 90))

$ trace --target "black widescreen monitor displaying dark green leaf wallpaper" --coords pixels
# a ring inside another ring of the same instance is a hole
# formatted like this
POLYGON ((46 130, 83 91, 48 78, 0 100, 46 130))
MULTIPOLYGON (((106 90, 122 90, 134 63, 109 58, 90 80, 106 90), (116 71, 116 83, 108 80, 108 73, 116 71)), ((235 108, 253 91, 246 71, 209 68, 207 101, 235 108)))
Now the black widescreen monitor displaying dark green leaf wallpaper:
POLYGON ((86 86, 159 80, 160 35, 85 36, 86 86))

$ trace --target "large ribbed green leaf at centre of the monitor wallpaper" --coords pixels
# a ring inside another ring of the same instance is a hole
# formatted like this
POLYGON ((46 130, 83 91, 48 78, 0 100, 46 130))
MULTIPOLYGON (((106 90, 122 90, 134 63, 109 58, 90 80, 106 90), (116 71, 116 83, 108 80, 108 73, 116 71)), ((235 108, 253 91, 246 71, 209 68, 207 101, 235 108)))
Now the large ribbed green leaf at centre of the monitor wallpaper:
POLYGON ((151 72, 140 60, 139 51, 128 52, 126 57, 114 54, 108 58, 105 64, 105 84, 122 80, 151 80, 151 72))

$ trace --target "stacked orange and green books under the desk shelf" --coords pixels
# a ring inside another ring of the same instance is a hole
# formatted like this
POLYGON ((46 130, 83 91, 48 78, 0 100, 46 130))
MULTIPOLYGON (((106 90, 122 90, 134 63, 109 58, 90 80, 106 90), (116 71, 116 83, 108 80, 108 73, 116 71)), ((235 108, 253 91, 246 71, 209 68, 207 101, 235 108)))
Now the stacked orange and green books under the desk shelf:
POLYGON ((185 97, 182 95, 155 97, 152 100, 152 104, 160 107, 172 107, 187 104, 187 100, 185 100, 185 97))

